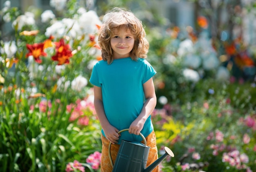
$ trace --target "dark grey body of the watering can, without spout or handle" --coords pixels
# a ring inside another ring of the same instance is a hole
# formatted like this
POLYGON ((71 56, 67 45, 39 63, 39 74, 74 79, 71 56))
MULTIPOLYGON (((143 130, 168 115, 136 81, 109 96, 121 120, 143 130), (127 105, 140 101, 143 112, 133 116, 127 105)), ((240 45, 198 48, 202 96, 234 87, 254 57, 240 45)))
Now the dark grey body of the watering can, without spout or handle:
POLYGON ((121 141, 112 172, 141 172, 146 168, 150 147, 139 142, 121 141))

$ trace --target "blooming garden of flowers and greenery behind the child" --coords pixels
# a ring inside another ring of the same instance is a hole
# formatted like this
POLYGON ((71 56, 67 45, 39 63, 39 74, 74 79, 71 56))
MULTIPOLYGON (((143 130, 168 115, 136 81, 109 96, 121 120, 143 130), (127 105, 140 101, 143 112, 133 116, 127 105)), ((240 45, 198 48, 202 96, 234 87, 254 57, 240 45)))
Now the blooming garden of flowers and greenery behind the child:
POLYGON ((146 0, 50 0, 45 11, 5 1, 0 25, 11 31, 0 32, 0 171, 100 171, 89 79, 102 59, 102 16, 120 6, 147 14, 139 16, 157 71, 151 119, 159 157, 165 146, 175 155, 161 171, 255 172, 256 43, 245 28, 256 2, 184 1, 197 9, 195 27, 166 24, 146 0), (219 22, 221 11, 227 22, 219 22))

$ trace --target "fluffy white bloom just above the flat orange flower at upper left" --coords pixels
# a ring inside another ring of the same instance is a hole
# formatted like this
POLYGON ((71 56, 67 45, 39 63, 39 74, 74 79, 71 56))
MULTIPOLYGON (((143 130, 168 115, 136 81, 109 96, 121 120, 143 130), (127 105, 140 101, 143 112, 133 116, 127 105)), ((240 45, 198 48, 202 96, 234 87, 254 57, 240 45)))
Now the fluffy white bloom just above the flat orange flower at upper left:
POLYGON ((12 26, 15 28, 18 25, 18 30, 21 30, 23 26, 34 25, 36 23, 34 14, 31 12, 25 12, 24 15, 20 15, 13 21, 12 26))

